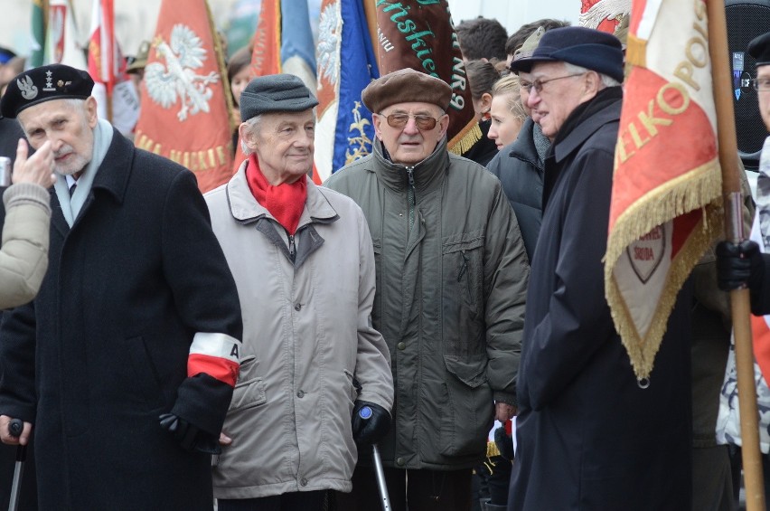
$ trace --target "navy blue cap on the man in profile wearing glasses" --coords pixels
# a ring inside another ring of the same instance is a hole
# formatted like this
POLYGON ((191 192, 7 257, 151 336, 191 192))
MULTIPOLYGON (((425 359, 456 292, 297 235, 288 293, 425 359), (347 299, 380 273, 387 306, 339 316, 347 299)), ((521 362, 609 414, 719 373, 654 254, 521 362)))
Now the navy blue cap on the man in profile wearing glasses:
POLYGON ((511 62, 511 70, 530 72, 537 62, 568 62, 623 81, 620 40, 611 33, 583 26, 549 30, 530 57, 511 62))

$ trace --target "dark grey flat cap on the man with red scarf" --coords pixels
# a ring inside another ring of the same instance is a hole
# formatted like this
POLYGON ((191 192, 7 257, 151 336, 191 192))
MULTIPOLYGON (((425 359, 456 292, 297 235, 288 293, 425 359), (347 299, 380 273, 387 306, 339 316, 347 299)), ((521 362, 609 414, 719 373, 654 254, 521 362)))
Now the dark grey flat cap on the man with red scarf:
POLYGON ((318 104, 305 83, 293 74, 268 74, 249 81, 240 93, 240 118, 270 112, 302 112, 318 104))

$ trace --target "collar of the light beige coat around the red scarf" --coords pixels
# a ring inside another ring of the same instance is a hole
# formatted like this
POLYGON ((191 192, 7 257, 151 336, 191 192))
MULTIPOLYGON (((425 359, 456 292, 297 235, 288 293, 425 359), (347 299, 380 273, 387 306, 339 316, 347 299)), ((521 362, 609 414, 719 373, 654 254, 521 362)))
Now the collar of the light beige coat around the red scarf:
MULTIPOLYGON (((254 198, 249 189, 249 183, 246 180, 246 166, 249 160, 244 160, 238 168, 238 172, 230 178, 227 184, 227 198, 230 204, 230 213, 233 218, 241 223, 250 223, 261 217, 268 217, 275 220, 275 217, 254 198)), ((336 210, 326 199, 324 194, 318 189, 309 177, 307 179, 307 199, 305 200, 305 209, 299 219, 297 230, 310 222, 333 222, 339 216, 336 210)))

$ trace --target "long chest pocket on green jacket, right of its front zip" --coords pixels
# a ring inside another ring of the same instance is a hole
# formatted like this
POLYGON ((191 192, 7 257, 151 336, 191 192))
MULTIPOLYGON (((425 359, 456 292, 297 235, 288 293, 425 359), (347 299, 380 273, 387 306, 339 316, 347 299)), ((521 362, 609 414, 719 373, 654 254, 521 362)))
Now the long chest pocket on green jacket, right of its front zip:
POLYGON ((444 354, 461 360, 484 354, 484 232, 444 239, 441 255, 444 354))

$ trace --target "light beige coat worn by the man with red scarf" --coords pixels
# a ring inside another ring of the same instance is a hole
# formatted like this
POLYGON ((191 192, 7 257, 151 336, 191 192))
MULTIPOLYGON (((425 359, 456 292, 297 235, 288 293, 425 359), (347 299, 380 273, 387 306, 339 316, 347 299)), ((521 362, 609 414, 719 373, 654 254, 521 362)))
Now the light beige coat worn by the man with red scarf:
POLYGON ((393 403, 390 354, 371 326, 366 219, 352 200, 308 180, 292 263, 286 231, 251 195, 245 165, 206 202, 243 312, 239 381, 223 428, 232 445, 213 470, 214 496, 350 491, 353 401, 393 403))

